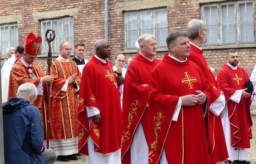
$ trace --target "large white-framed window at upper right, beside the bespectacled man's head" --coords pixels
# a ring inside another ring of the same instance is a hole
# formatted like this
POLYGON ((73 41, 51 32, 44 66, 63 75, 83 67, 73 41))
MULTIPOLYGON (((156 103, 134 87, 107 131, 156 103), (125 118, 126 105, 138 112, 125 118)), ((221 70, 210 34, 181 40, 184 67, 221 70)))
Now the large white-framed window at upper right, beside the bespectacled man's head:
POLYGON ((209 29, 205 45, 255 43, 253 0, 202 5, 201 14, 209 29))

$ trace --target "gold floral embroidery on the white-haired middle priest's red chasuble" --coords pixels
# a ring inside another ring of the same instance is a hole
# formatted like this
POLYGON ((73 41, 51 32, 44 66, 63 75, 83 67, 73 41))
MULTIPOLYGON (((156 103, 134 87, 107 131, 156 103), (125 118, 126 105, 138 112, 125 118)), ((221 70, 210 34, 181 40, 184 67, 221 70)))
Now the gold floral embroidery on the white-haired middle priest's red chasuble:
POLYGON ((131 107, 129 108, 129 114, 128 114, 128 126, 127 126, 127 130, 125 130, 123 132, 123 135, 122 135, 122 139, 121 139, 121 145, 123 145, 123 142, 127 141, 129 139, 129 135, 130 135, 130 125, 132 123, 132 121, 134 120, 133 119, 133 116, 134 115, 137 115, 137 110, 138 108, 140 107, 140 103, 139 103, 139 100, 134 100, 133 103, 131 103, 131 107))

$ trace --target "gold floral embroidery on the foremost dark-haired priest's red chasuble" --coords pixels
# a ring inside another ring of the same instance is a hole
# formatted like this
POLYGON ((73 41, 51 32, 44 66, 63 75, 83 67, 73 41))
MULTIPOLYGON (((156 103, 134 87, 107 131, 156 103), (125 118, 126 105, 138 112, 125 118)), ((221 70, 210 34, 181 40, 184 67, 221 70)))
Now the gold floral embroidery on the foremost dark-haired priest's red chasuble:
POLYGON ((154 132, 155 132, 155 141, 151 143, 151 150, 149 151, 149 163, 151 163, 152 157, 154 156, 154 152, 157 150, 157 144, 159 140, 158 131, 161 131, 161 124, 164 121, 164 117, 162 112, 157 113, 157 116, 154 117, 154 132))

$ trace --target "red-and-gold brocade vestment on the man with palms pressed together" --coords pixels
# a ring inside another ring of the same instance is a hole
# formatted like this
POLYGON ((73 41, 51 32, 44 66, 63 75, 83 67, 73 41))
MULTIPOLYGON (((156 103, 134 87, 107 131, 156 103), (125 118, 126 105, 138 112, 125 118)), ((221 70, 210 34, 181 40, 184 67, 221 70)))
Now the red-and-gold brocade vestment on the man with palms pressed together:
POLYGON ((77 106, 78 98, 72 84, 67 91, 61 91, 68 76, 77 73, 76 83, 80 86, 81 73, 75 62, 53 60, 51 65, 54 78, 52 84, 50 109, 50 140, 72 139, 78 136, 77 106))

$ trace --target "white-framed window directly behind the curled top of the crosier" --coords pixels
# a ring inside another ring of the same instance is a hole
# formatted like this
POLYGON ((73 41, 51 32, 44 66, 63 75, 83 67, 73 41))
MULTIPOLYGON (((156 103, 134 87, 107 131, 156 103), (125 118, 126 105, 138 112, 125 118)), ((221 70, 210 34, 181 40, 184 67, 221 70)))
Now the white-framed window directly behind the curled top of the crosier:
MULTIPOLYGON (((68 41, 74 48, 74 26, 73 18, 61 18, 55 20, 41 21, 41 36, 42 36, 42 54, 48 53, 49 47, 45 41, 45 33, 47 29, 55 30, 55 39, 51 42, 52 52, 58 53, 60 44, 63 41, 68 41)), ((49 34, 48 34, 49 37, 49 34)))

